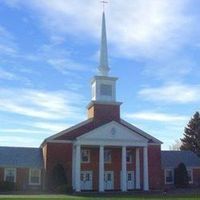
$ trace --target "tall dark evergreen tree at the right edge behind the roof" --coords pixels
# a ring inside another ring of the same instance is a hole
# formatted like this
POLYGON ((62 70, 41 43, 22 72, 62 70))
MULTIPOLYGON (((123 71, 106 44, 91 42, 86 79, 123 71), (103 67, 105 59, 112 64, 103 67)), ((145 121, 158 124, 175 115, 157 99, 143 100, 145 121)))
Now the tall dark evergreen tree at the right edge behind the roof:
POLYGON ((200 156, 200 114, 196 112, 187 127, 185 127, 184 138, 181 139, 181 150, 190 150, 200 156))

